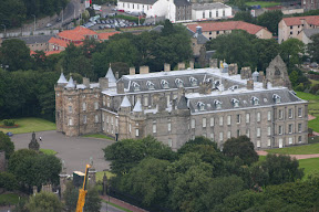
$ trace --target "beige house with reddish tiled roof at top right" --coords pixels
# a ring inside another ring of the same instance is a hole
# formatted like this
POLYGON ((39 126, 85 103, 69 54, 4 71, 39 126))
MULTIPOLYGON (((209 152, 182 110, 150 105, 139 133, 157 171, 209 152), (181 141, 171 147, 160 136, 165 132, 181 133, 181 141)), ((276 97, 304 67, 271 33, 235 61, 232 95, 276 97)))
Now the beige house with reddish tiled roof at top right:
POLYGON ((281 43, 290 38, 298 39, 305 29, 319 28, 319 15, 284 18, 278 23, 278 42, 281 43))

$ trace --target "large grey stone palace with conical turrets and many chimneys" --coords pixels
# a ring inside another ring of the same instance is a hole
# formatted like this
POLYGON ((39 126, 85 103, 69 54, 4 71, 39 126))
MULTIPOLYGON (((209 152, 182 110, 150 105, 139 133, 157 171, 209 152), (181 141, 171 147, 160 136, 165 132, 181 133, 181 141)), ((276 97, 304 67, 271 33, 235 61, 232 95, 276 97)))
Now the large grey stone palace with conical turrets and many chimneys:
POLYGON ((156 73, 143 66, 140 74, 132 67, 117 81, 110 67, 99 83, 84 78, 83 84, 72 77, 66 82, 61 74, 55 85, 56 130, 119 139, 152 135, 174 150, 196 136, 220 147, 239 135, 250 137, 257 149, 306 144, 308 104, 284 86, 288 75, 281 61, 275 59, 266 76, 251 74, 249 67, 239 75, 237 65, 226 63, 223 68, 181 71, 166 64, 156 73), (274 75, 286 78, 274 82, 274 75))

